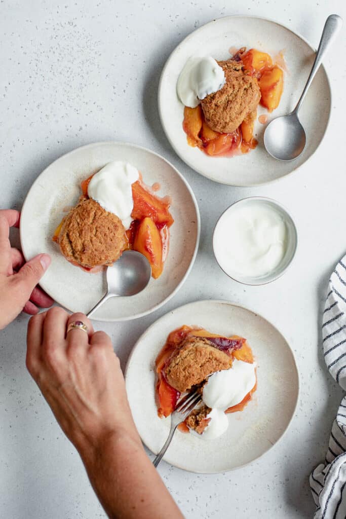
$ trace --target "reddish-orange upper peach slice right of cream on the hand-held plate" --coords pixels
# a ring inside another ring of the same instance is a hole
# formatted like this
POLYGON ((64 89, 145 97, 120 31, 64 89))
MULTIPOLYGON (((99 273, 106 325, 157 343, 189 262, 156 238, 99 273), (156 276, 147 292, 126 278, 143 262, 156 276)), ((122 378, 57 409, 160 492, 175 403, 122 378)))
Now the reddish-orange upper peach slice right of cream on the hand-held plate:
POLYGON ((140 182, 132 184, 133 210, 131 217, 133 220, 142 220, 149 217, 158 225, 170 227, 174 220, 169 212, 169 204, 159 197, 154 196, 145 189, 140 182))

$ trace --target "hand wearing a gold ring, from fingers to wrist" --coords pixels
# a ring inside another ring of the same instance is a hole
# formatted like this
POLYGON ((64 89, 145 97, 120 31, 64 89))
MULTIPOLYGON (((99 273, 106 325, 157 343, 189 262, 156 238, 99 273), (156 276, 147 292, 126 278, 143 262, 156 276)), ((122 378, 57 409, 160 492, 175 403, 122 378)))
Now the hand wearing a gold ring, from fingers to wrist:
POLYGON ((97 451, 113 433, 140 442, 112 342, 83 313, 59 307, 29 321, 26 366, 67 438, 81 455, 97 451), (88 333, 68 324, 82 321, 88 333))

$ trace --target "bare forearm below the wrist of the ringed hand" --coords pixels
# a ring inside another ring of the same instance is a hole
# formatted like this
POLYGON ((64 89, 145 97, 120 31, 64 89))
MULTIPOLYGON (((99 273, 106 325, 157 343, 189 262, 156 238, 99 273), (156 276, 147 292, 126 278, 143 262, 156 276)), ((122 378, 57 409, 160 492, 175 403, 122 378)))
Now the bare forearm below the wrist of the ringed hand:
POLYGON ((183 517, 135 436, 113 434, 99 449, 81 456, 112 519, 183 517))

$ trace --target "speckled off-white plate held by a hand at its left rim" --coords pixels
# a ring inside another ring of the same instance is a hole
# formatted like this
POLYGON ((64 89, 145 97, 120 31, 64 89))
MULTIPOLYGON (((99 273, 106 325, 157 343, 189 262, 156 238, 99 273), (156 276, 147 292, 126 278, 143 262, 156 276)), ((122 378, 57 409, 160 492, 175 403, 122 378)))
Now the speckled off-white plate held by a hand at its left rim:
POLYGON ((108 299, 93 318, 125 321, 150 313, 172 297, 182 286, 195 261, 200 235, 200 217, 195 195, 183 176, 160 155, 134 144, 101 142, 67 153, 41 173, 25 199, 20 239, 28 260, 47 252, 52 263, 40 281, 42 288, 69 310, 87 313, 106 292, 105 275, 87 274, 68 263, 52 241, 63 210, 74 206, 81 195, 80 182, 111 160, 126 160, 143 174, 147 185, 158 182, 158 195, 172 198, 170 249, 163 274, 151 279, 147 288, 132 297, 108 299))

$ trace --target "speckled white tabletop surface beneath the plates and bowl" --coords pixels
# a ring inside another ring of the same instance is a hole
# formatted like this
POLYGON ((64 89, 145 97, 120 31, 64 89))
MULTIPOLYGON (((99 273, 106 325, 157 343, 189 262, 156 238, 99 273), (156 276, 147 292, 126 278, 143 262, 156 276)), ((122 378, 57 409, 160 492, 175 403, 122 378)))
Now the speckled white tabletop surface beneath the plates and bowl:
MULTIPOLYGON (((163 154, 185 175, 199 202, 200 251, 182 290, 150 316, 99 325, 112 335, 123 365, 149 324, 200 298, 232 299, 257 310, 278 325, 296 352, 301 378, 297 414, 284 440, 262 461, 209 476, 164 462, 159 467, 189 518, 291 519, 311 517, 314 510, 308 474, 324 458, 341 400, 341 389, 323 361, 319 323, 330 271, 346 249, 341 224, 346 189, 345 29, 325 62, 333 91, 325 140, 297 173, 269 186, 214 184, 178 159, 159 123, 160 72, 176 45, 213 18, 232 13, 266 16, 289 25, 316 46, 331 12, 346 19, 340 0, 0 3, 0 205, 20 208, 37 175, 63 153, 114 139, 163 154), (292 212, 299 247, 282 278, 247 287, 219 269, 211 238, 219 214, 231 202, 255 195, 275 198, 292 212)), ((26 322, 21 316, 0 333, 1 515, 105 517, 78 455, 26 372, 26 322)))

